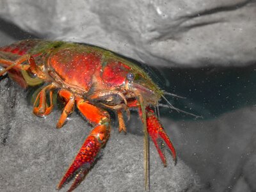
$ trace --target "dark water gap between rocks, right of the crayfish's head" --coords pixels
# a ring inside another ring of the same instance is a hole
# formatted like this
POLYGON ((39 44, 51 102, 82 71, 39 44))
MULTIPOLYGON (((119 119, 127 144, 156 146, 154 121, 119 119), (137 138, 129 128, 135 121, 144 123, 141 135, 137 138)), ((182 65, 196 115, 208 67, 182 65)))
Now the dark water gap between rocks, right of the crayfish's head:
MULTIPOLYGON (((169 84, 166 91, 187 98, 171 98, 172 104, 205 119, 256 103, 255 65, 243 68, 172 68, 161 72, 169 84)), ((179 113, 172 116, 193 118, 179 113)))

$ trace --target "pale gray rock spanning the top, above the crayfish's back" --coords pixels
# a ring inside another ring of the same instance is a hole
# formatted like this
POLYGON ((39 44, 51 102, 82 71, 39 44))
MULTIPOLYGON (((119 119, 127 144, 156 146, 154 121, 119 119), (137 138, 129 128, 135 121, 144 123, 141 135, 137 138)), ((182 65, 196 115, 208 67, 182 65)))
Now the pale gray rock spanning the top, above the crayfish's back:
POLYGON ((255 63, 255 14, 249 0, 0 2, 0 17, 41 37, 166 67, 255 63))

